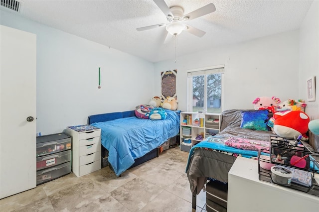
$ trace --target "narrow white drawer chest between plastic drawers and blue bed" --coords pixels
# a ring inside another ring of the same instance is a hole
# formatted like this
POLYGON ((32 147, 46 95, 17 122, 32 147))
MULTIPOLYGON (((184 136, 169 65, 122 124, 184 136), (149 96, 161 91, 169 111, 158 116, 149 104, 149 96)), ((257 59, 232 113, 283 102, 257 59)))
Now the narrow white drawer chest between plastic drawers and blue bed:
POLYGON ((101 169, 101 129, 91 125, 69 126, 72 136, 72 172, 81 177, 101 169))

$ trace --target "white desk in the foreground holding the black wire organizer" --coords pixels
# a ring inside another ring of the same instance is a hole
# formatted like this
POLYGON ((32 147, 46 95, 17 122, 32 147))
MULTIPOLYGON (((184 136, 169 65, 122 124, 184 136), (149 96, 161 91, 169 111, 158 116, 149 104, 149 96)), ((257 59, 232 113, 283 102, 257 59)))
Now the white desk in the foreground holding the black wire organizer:
POLYGON ((260 181, 258 161, 238 157, 228 173, 227 212, 319 212, 319 197, 260 181))

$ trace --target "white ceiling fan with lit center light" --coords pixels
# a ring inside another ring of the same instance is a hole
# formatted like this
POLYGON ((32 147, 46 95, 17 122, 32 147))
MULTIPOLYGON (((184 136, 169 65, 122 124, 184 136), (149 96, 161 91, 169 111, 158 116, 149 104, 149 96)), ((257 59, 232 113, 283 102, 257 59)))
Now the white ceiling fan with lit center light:
POLYGON ((216 11, 215 5, 213 3, 209 3, 192 12, 184 14, 184 10, 181 6, 168 7, 164 0, 154 0, 154 2, 158 5, 160 10, 165 14, 168 23, 160 23, 156 25, 140 27, 140 28, 137 28, 137 30, 144 31, 144 30, 155 29, 162 26, 166 26, 165 28, 167 31, 167 35, 164 40, 164 44, 168 43, 171 40, 172 36, 177 36, 182 31, 186 31, 198 37, 202 37, 206 32, 200 29, 197 29, 193 26, 190 26, 188 24, 185 24, 184 22, 216 11))

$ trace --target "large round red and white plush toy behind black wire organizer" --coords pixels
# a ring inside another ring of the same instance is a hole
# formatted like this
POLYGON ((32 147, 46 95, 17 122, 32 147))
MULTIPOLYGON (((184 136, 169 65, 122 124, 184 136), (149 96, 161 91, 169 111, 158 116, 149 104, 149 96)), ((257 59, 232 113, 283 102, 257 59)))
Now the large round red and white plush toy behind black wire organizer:
POLYGON ((300 110, 288 110, 285 112, 276 112, 274 118, 274 132, 285 138, 297 139, 302 135, 302 140, 307 141, 309 116, 300 110))

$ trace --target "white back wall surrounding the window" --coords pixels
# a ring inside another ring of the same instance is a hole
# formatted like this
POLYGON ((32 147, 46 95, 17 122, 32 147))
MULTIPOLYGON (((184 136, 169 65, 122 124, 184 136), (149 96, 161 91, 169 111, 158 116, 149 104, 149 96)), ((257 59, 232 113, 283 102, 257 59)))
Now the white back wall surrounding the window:
POLYGON ((252 102, 262 96, 282 101, 302 98, 298 30, 193 53, 176 63, 173 58, 156 63, 155 88, 160 92, 161 71, 177 69, 178 109, 186 110, 187 70, 221 64, 225 65, 222 110, 253 108, 252 102))

